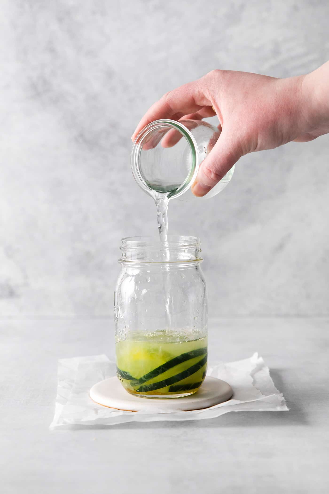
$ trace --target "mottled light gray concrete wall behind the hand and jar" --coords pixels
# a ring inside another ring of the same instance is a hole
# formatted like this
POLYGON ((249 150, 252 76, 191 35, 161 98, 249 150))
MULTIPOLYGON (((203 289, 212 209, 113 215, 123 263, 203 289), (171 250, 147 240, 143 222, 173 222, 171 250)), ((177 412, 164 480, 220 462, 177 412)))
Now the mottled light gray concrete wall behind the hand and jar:
MULTIPOLYGON (((156 233, 132 134, 214 68, 287 77, 329 59, 325 0, 1 0, 0 316, 112 314, 121 237, 156 233)), ((329 136, 249 155, 216 198, 172 201, 200 236, 210 314, 329 313, 329 136)))

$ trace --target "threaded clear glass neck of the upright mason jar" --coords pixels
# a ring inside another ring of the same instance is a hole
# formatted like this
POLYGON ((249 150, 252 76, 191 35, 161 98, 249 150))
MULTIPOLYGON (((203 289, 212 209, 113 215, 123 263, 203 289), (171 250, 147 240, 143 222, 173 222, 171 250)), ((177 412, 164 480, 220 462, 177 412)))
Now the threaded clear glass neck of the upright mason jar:
POLYGON ((122 261, 172 263, 202 261, 200 240, 188 235, 168 235, 161 244, 159 237, 125 237, 121 239, 122 261))

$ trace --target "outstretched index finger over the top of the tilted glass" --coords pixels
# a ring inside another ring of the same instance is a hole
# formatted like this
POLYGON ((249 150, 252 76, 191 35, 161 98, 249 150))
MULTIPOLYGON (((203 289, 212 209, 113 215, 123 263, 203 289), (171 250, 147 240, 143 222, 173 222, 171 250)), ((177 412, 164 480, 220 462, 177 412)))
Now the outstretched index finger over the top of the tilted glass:
POLYGON ((201 80, 188 82, 162 96, 147 110, 131 139, 134 141, 142 128, 154 120, 179 120, 184 115, 198 112, 204 106, 212 106, 211 101, 203 93, 202 85, 201 80))

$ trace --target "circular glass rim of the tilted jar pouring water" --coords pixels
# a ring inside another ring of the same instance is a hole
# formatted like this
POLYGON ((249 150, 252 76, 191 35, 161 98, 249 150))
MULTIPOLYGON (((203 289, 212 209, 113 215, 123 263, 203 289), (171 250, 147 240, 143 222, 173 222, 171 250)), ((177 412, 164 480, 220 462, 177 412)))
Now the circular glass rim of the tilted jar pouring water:
POLYGON ((190 132, 190 130, 187 127, 185 127, 185 125, 182 122, 176 120, 170 120, 170 119, 160 119, 160 120, 155 120, 154 122, 151 122, 150 124, 142 128, 142 130, 137 135, 131 150, 131 170, 133 172, 133 176, 137 184, 142 190, 144 190, 144 192, 146 192, 149 195, 152 195, 153 192, 159 192, 147 186, 146 181, 143 179, 143 174, 141 173, 139 164, 140 164, 140 154, 142 151, 142 144, 144 139, 147 137, 147 135, 150 132, 156 130, 157 128, 159 129, 161 127, 169 127, 178 130, 185 138, 191 150, 192 163, 188 175, 186 176, 183 183, 173 194, 168 194, 168 198, 177 198, 182 196, 189 189, 191 184, 194 182, 199 169, 199 149, 197 142, 193 134, 190 132))

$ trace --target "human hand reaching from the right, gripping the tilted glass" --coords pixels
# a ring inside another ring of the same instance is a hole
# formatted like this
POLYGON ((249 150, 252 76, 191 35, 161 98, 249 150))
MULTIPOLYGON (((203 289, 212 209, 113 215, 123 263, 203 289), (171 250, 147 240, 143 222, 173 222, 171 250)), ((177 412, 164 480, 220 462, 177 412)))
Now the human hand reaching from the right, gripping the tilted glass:
MULTIPOLYGON (((290 141, 310 141, 329 132, 328 76, 329 62, 307 76, 288 79, 214 70, 154 103, 132 140, 154 120, 201 120, 217 115, 220 137, 192 185, 193 194, 202 197, 241 156, 290 141)), ((162 145, 175 144, 173 138, 168 132, 162 145)))

